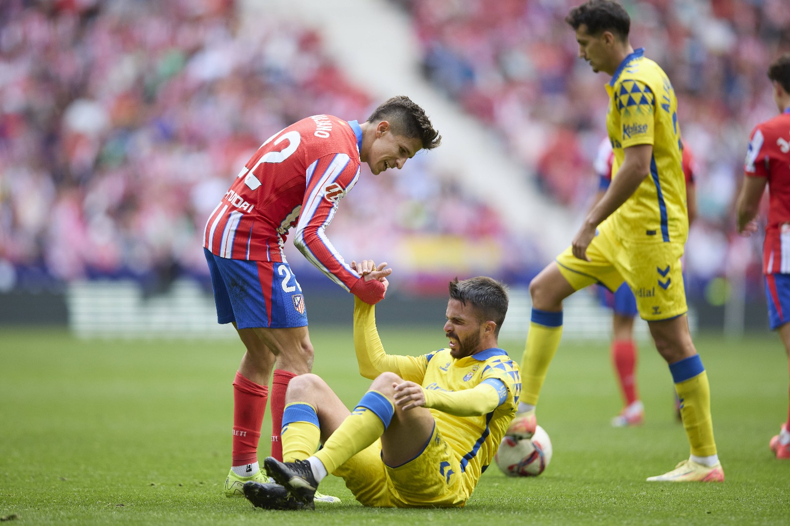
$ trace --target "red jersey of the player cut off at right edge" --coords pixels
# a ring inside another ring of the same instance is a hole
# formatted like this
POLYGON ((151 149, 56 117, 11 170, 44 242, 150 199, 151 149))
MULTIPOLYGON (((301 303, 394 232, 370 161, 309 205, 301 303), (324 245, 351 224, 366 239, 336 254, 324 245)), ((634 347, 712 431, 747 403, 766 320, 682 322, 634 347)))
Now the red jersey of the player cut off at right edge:
POLYGON ((768 179, 763 272, 790 274, 790 108, 754 126, 743 171, 768 179))

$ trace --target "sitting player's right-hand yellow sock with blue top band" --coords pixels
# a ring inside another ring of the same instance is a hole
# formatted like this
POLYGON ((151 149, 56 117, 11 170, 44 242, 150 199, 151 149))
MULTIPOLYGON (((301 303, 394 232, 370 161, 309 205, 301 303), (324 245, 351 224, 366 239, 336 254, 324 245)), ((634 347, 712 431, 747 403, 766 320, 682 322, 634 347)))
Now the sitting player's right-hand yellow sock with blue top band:
POLYGON ((382 436, 393 412, 394 406, 389 398, 378 391, 368 391, 314 456, 321 460, 327 473, 334 472, 382 436))

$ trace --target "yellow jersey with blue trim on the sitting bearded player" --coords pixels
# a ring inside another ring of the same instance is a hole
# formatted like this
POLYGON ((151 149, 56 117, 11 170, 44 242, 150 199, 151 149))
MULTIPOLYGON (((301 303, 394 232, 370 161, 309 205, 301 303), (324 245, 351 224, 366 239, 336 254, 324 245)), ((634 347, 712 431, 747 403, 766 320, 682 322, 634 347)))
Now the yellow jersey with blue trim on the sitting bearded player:
POLYGON ((518 364, 500 348, 486 349, 461 359, 454 359, 450 349, 441 349, 416 357, 416 360, 425 360, 425 374, 420 383, 427 390, 461 391, 491 379, 502 381, 507 390, 499 393, 502 401, 487 415, 456 416, 430 410, 439 432, 460 458, 464 486, 468 494, 472 494, 516 415, 521 395, 518 364))

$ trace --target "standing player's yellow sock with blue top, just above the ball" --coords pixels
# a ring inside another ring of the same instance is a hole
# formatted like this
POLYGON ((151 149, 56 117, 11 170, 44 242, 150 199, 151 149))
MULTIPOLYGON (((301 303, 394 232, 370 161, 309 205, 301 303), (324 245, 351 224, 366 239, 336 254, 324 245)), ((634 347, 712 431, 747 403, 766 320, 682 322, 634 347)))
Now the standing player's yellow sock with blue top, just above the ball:
POLYGON ((527 345, 521 359, 521 402, 536 405, 548 366, 562 338, 562 310, 532 309, 527 345))

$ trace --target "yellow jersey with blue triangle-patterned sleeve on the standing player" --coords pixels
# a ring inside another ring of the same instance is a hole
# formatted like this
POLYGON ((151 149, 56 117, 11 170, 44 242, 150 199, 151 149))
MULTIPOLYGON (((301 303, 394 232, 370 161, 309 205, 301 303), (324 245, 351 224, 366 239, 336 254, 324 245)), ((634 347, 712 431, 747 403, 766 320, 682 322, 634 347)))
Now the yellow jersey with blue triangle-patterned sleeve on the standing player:
POLYGON ((623 150, 653 145, 650 174, 602 226, 637 242, 680 242, 688 236, 686 179, 680 142, 678 100, 664 70, 640 47, 620 63, 606 85, 606 127, 615 154, 612 178, 623 150))

